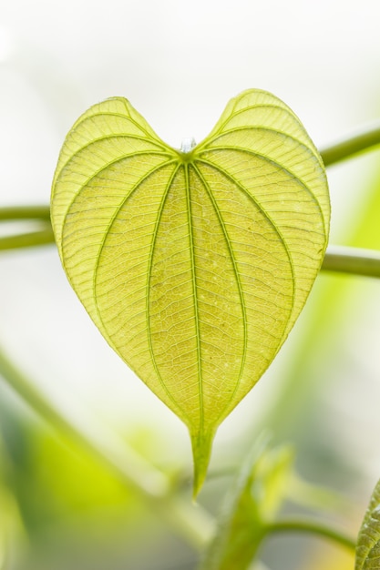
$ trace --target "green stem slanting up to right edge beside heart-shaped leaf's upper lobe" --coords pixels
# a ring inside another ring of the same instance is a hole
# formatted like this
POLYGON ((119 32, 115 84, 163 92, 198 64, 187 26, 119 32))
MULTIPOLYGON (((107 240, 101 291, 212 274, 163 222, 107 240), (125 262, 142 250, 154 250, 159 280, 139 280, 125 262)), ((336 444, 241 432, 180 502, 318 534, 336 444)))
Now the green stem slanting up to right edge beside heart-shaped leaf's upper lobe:
POLYGON ((324 166, 330 167, 365 150, 375 150, 378 145, 380 145, 380 127, 376 125, 359 135, 345 138, 331 147, 324 148, 321 150, 321 157, 324 166))

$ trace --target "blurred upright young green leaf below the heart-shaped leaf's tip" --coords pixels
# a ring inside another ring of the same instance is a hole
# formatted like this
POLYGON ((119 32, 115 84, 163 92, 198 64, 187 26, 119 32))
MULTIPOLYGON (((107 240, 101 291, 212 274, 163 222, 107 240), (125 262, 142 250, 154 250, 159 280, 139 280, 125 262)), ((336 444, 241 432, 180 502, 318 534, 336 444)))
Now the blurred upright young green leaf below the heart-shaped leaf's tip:
POLYGON ((289 447, 271 450, 255 443, 221 506, 217 533, 200 570, 245 570, 251 565, 266 524, 282 505, 292 467, 289 447))

